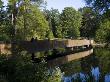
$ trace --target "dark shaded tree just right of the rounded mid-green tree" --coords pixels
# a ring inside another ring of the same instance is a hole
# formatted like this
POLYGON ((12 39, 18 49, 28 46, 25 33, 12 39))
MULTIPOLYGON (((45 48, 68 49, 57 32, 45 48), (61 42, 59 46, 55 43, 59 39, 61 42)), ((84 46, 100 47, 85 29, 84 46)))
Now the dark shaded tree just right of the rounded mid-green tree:
POLYGON ((100 24, 100 15, 93 11, 91 7, 80 8, 83 19, 80 33, 82 37, 94 38, 96 30, 100 24))

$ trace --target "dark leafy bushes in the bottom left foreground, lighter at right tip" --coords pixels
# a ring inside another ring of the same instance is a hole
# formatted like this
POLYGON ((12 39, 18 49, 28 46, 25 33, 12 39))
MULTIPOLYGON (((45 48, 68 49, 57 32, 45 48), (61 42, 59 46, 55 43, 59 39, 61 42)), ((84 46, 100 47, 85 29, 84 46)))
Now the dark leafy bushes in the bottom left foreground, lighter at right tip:
POLYGON ((49 72, 45 62, 33 63, 29 54, 16 58, 0 55, 0 81, 5 82, 61 82, 61 70, 49 72), (1 77, 2 76, 2 77, 1 77))

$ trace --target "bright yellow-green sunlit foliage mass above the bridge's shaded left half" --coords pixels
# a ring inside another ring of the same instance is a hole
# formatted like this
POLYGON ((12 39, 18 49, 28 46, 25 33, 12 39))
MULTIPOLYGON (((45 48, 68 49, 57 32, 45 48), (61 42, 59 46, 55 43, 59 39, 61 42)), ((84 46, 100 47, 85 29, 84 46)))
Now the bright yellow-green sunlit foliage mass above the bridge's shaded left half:
POLYGON ((25 33, 24 37, 38 37, 44 39, 46 32, 49 30, 48 23, 40 10, 34 6, 30 7, 29 13, 21 12, 17 19, 17 29, 19 36, 25 33), (23 31, 23 32, 22 32, 23 31))

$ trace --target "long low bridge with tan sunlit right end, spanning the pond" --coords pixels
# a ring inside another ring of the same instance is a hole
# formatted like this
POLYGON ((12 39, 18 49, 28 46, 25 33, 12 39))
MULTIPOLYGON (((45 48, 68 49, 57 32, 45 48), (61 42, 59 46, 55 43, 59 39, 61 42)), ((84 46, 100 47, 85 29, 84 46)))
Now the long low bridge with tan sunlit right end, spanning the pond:
POLYGON ((28 51, 30 53, 47 51, 57 48, 73 48, 73 47, 84 47, 93 44, 93 40, 37 40, 37 41, 16 41, 16 42, 0 42, 0 54, 11 54, 12 45, 20 48, 22 51, 28 51))

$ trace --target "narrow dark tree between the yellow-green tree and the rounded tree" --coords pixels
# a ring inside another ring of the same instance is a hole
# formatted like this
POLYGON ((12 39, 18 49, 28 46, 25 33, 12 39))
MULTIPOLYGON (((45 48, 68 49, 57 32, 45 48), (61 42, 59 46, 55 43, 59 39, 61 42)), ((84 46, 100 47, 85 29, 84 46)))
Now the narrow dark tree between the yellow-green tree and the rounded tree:
POLYGON ((49 22, 50 30, 52 30, 55 38, 60 37, 59 26, 60 26, 60 13, 58 9, 44 10, 47 21, 49 22))

